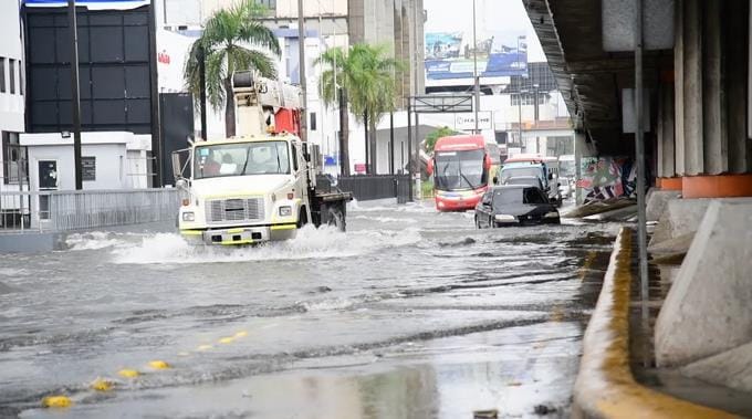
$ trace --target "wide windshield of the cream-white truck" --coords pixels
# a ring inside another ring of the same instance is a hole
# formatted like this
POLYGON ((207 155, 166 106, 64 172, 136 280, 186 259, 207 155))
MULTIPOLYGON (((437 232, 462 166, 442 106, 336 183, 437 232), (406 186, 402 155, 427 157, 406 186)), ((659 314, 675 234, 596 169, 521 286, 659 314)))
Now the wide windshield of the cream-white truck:
POLYGON ((290 172, 286 142, 197 146, 194 179, 290 172))

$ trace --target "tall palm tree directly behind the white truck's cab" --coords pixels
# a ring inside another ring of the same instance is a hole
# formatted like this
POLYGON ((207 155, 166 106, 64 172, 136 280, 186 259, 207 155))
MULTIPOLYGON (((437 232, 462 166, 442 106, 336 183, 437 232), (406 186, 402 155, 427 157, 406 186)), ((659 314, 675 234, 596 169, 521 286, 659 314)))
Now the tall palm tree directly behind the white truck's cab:
POLYGON ((206 22, 203 33, 190 49, 184 77, 196 96, 200 85, 199 64, 206 63, 206 92, 215 111, 224 106, 224 134, 236 135, 236 104, 232 94, 232 74, 241 70, 255 70, 265 77, 275 77, 274 61, 264 52, 244 45, 268 49, 280 55, 280 44, 274 33, 257 18, 265 12, 254 0, 243 0, 230 9, 216 11, 206 22))

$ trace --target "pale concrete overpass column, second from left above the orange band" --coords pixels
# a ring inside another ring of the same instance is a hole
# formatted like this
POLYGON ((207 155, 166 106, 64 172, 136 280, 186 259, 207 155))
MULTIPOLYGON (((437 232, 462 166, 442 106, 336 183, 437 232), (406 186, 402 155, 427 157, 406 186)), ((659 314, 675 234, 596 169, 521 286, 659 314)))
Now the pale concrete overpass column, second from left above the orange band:
POLYGON ((702 0, 685 0, 685 174, 700 175, 703 166, 702 0))

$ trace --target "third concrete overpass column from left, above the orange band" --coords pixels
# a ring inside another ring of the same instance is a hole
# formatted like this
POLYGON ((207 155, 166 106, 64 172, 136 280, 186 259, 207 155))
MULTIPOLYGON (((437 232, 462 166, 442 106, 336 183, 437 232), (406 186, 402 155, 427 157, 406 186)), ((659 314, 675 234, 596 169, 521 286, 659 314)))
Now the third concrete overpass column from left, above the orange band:
POLYGON ((729 169, 721 1, 702 1, 702 153, 708 175, 729 169))

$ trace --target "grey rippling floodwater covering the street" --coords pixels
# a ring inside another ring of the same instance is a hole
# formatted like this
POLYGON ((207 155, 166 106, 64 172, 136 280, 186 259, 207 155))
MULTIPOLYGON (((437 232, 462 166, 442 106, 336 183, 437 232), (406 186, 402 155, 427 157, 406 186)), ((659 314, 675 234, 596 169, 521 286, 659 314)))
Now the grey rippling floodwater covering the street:
POLYGON ((430 202, 347 220, 258 248, 150 226, 0 255, 0 417, 568 416, 618 226, 476 230, 430 202))

